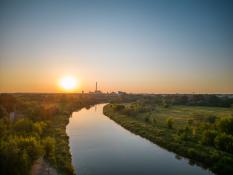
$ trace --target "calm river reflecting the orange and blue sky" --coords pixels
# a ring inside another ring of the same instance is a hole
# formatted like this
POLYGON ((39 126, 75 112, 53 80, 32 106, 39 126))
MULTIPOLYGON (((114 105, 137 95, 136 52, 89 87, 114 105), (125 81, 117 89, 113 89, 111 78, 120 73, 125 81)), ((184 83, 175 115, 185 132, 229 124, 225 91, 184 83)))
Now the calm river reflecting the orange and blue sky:
POLYGON ((211 174, 122 128, 103 115, 103 106, 74 112, 67 126, 78 175, 211 174))

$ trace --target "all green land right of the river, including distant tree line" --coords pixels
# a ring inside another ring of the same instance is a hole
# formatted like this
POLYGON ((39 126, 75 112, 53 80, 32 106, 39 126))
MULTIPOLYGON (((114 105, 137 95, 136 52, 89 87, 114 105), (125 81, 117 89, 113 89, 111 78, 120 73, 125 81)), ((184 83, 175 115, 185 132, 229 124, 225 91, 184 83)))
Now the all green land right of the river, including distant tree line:
POLYGON ((196 98, 178 105, 180 96, 143 96, 136 102, 108 104, 104 114, 133 133, 216 174, 232 174, 233 108, 226 105, 230 100, 216 103, 215 97, 207 95, 201 98, 202 103, 193 103, 196 98))

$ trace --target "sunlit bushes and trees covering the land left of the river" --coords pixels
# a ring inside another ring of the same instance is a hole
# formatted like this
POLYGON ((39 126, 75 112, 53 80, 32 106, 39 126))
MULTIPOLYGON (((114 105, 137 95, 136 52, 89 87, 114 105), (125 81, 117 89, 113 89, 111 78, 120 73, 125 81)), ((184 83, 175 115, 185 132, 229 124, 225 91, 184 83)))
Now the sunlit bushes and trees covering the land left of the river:
POLYGON ((0 174, 30 174, 40 157, 59 174, 75 174, 66 134, 71 112, 107 99, 88 94, 0 94, 0 174))

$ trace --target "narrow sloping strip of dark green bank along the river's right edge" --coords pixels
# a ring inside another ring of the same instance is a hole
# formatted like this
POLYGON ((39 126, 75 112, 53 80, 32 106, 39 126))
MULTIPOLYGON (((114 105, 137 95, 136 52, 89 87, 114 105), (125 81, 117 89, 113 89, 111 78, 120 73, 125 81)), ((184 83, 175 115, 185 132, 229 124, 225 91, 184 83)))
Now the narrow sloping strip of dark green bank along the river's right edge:
POLYGON ((141 120, 140 117, 137 118, 122 114, 121 112, 116 111, 112 104, 106 105, 103 112, 106 116, 129 131, 181 156, 187 157, 191 162, 209 168, 214 173, 230 174, 233 172, 233 169, 231 168, 231 154, 216 150, 209 146, 203 146, 198 142, 181 141, 176 137, 176 129, 164 127, 163 125, 158 124, 158 121, 151 122, 151 118, 141 120))

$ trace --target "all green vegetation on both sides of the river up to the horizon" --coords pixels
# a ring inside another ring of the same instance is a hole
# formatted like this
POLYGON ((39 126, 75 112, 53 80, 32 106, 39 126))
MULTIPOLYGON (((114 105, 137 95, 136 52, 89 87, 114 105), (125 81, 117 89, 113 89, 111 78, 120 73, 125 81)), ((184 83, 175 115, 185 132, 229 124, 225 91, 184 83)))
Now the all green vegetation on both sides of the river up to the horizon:
POLYGON ((66 135, 71 112, 109 101, 104 113, 125 128, 213 172, 233 172, 233 100, 226 96, 0 94, 0 174, 30 174, 42 157, 73 175, 66 135))

